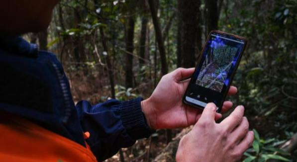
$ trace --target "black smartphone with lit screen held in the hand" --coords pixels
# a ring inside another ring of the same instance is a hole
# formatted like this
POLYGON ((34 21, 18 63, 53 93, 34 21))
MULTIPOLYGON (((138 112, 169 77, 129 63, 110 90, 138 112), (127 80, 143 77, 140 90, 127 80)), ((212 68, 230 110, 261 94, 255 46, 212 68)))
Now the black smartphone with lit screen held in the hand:
POLYGON ((243 37, 211 31, 183 102, 202 109, 207 103, 213 102, 217 112, 220 112, 246 43, 243 37))

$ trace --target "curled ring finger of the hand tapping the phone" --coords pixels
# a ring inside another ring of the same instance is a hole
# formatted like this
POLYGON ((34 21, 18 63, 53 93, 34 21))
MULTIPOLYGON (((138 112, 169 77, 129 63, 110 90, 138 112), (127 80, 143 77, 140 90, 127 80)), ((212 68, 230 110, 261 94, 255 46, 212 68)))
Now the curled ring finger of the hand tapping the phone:
POLYGON ((249 132, 249 122, 246 117, 242 118, 242 122, 231 133, 231 138, 234 143, 238 144, 249 132))

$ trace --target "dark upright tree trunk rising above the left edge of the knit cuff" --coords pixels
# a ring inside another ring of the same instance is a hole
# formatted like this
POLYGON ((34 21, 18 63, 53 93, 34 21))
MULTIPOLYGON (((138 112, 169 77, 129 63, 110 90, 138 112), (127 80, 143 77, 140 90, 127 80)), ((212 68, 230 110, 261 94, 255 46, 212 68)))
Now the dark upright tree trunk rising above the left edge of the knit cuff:
POLYGON ((133 41, 134 41, 135 19, 133 16, 128 18, 127 38, 126 38, 126 54, 125 54, 125 72, 126 72, 126 88, 133 87, 133 41))

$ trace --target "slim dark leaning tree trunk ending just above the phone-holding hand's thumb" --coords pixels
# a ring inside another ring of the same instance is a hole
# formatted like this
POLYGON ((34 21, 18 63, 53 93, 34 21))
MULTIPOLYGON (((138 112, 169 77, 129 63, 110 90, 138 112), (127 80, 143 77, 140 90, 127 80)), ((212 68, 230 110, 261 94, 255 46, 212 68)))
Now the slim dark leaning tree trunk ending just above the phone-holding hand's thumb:
POLYGON ((153 24, 155 28, 155 34, 156 34, 156 39, 158 42, 158 48, 159 48, 159 53, 161 57, 161 72, 162 75, 166 75, 168 73, 168 67, 167 67, 167 59, 166 59, 166 52, 165 52, 165 47, 164 47, 164 42, 162 38, 162 32, 157 16, 157 9, 156 9, 156 4, 155 0, 148 0, 149 6, 150 6, 150 11, 153 19, 153 24))

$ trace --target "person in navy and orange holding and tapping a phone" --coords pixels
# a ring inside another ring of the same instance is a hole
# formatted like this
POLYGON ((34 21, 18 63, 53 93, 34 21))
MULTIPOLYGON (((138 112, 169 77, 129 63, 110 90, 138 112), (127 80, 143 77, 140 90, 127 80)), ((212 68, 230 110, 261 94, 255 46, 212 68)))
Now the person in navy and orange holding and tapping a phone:
MULTIPOLYGON (((236 162, 253 141, 238 106, 221 123, 209 103, 183 103, 195 69, 177 69, 143 100, 74 104, 63 67, 19 35, 47 28, 58 0, 0 2, 0 160, 5 162, 101 162, 154 130, 195 125, 180 142, 177 162, 236 162), (165 95, 166 94, 166 95, 165 95), (203 111, 203 113, 202 113, 203 111)), ((237 92, 230 86, 229 95, 237 92)), ((225 101, 221 112, 232 107, 225 101)))

